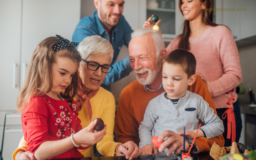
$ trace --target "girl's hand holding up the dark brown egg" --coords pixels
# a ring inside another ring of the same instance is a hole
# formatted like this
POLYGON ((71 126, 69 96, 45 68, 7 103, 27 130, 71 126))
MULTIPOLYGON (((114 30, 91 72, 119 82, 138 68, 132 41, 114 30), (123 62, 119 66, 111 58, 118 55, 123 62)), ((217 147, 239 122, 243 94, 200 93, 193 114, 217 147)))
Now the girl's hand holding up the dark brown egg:
POLYGON ((97 120, 92 121, 87 127, 73 135, 74 141, 77 145, 87 147, 101 141, 106 134, 107 125, 101 131, 94 130, 97 120), (87 146, 86 146, 87 145, 87 146))

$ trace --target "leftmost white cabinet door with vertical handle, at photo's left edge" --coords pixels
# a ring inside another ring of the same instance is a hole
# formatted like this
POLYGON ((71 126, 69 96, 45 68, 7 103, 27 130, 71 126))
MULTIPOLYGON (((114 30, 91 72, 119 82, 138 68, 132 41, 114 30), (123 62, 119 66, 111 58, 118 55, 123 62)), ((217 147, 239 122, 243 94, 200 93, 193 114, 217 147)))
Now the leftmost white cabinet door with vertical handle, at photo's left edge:
POLYGON ((21 0, 0 0, 0 110, 15 110, 19 92, 21 0))

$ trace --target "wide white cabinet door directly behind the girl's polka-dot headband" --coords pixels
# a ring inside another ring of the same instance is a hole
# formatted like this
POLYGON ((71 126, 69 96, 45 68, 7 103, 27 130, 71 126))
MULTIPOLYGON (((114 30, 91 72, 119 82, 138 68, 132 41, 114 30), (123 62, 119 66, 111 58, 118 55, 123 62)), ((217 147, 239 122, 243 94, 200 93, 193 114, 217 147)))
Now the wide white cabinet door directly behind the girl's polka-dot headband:
POLYGON ((72 40, 80 20, 80 10, 80 0, 23 0, 21 75, 25 75, 24 67, 42 40, 56 34, 72 40))

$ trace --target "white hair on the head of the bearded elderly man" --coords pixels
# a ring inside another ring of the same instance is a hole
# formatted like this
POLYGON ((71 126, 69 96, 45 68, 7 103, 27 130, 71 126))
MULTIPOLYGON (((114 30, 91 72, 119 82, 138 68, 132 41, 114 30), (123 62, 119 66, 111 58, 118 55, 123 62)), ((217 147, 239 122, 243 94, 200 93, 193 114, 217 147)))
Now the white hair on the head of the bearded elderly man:
POLYGON ((160 32, 152 28, 140 28, 132 32, 131 38, 140 37, 146 34, 151 34, 156 47, 157 58, 160 56, 160 51, 164 49, 164 39, 160 32))

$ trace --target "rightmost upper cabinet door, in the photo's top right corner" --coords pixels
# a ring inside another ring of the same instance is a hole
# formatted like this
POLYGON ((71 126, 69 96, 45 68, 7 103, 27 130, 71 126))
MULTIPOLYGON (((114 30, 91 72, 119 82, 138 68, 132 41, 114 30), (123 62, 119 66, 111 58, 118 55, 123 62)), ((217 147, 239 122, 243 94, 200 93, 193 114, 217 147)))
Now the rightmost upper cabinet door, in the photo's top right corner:
POLYGON ((239 12, 241 16, 241 39, 256 35, 256 1, 241 0, 239 12), (241 11, 243 10, 243 11, 241 11))

